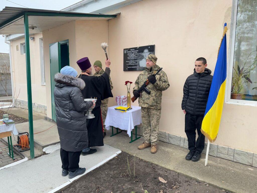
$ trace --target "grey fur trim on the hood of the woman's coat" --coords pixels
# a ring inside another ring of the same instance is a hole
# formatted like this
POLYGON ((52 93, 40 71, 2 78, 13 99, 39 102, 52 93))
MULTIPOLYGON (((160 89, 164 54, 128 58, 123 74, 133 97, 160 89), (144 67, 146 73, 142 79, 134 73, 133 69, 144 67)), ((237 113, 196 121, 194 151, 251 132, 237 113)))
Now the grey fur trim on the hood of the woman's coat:
POLYGON ((86 86, 85 82, 81 78, 74 78, 73 76, 63 75, 61 73, 56 73, 54 75, 54 81, 59 83, 59 85, 56 84, 57 87, 63 87, 65 85, 62 84, 66 84, 68 86, 76 86, 80 90, 83 90, 86 86))

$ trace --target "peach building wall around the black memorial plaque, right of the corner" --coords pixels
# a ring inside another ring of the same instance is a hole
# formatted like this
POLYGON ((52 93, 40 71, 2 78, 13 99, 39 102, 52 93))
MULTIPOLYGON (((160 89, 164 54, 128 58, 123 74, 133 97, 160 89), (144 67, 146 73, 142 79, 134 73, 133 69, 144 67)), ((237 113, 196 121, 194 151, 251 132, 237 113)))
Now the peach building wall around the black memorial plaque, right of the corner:
MULTIPOLYGON (((154 44, 157 64, 163 67, 170 82, 162 96, 160 130, 186 136, 185 116, 181 110, 183 85, 187 76, 193 73, 198 57, 205 57, 207 67, 214 72, 225 22, 228 51, 231 9, 232 0, 143 0, 109 12, 121 12, 117 18, 108 21, 114 97, 126 95, 123 82, 130 80, 134 86, 140 73, 123 71, 123 49, 154 44)), ((109 106, 115 104, 114 98, 109 100, 109 106)), ((256 113, 256 107, 224 104, 215 143, 257 153, 256 113)))

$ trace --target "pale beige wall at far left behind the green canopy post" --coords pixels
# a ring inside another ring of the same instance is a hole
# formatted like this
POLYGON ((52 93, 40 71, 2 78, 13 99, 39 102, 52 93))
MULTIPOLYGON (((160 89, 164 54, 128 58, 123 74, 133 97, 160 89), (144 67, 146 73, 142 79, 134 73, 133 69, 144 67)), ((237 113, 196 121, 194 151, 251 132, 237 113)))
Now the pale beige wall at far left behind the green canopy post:
MULTIPOLYGON (((45 85, 41 85, 41 69, 40 69, 40 45, 39 38, 42 33, 34 34, 35 39, 30 40, 30 66, 31 66, 31 89, 32 102, 46 105, 45 85)), ((27 101, 27 75, 26 75, 26 58, 25 54, 21 54, 21 43, 25 39, 20 38, 11 41, 12 65, 13 65, 13 84, 15 88, 15 98, 27 101), (19 50, 16 50, 16 45, 19 50), (20 91, 20 94, 19 94, 20 91), (19 96, 18 96, 19 94, 19 96)))

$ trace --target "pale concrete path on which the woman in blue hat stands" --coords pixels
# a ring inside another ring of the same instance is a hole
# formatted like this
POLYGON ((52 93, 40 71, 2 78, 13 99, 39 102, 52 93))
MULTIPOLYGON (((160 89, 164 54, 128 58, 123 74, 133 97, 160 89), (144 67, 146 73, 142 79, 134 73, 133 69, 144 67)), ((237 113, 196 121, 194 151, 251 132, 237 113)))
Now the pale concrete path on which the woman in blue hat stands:
MULTIPOLYGON (((97 153, 80 156, 79 166, 89 172, 117 156, 118 149, 97 147, 97 153)), ((85 174, 86 175, 86 174, 85 174)), ((56 192, 79 177, 61 176, 60 150, 0 170, 1 192, 56 192)))

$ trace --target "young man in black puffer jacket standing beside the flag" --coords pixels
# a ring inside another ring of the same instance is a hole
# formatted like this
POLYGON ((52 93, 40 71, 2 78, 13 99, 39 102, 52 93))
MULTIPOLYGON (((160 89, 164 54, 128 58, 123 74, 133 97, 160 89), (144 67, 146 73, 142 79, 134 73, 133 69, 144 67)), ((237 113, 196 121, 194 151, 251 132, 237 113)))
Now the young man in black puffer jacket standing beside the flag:
POLYGON ((205 136, 201 133, 202 121, 212 84, 212 71, 207 67, 205 58, 197 58, 194 74, 187 77, 183 88, 182 110, 185 115, 185 132, 189 153, 186 160, 198 161, 204 150, 205 136), (196 140, 196 131, 198 138, 196 140))

